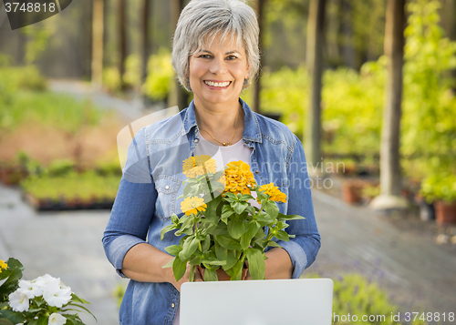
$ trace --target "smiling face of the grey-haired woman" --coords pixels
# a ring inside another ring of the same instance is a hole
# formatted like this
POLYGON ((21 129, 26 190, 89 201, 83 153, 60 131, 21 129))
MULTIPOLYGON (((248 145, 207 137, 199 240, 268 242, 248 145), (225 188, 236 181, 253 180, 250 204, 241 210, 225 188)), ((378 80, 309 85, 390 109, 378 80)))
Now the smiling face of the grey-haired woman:
POLYGON ((189 79, 195 105, 236 104, 248 76, 244 47, 237 46, 235 40, 220 44, 220 34, 211 46, 190 57, 189 79))

